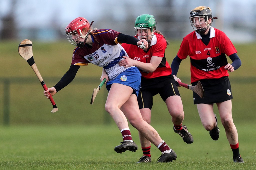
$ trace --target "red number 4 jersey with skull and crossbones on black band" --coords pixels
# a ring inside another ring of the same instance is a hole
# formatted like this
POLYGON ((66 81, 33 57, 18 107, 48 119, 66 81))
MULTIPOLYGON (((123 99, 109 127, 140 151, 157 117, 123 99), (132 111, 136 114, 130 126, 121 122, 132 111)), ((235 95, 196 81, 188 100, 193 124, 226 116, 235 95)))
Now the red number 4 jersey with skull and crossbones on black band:
POLYGON ((195 31, 184 37, 178 57, 190 57, 191 83, 202 79, 218 79, 229 76, 224 67, 228 64, 226 55, 237 53, 236 48, 227 35, 210 27, 210 42, 205 45, 201 35, 195 31), (225 55, 226 54, 226 55, 225 55))

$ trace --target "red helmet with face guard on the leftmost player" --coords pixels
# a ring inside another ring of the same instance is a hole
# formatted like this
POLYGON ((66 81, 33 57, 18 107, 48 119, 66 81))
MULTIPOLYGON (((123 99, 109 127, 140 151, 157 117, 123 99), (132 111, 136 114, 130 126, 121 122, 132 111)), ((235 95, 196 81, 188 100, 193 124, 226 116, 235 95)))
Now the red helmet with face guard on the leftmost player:
MULTIPOLYGON (((93 21, 91 22, 92 25, 93 21)), ((83 17, 78 17, 71 21, 66 27, 68 41, 78 47, 83 47, 89 35, 89 22, 83 17), (86 30, 86 32, 84 31, 86 30), (84 35, 83 35, 84 34, 84 35)))

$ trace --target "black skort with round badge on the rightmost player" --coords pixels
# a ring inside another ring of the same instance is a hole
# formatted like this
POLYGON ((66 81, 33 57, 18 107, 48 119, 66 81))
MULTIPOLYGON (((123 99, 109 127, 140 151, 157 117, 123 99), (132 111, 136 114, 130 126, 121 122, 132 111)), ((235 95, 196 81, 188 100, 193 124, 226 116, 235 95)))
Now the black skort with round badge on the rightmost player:
MULTIPOLYGON (((221 77, 219 79, 203 79, 200 80, 205 96, 200 98, 195 92, 193 92, 194 104, 204 103, 220 103, 230 99, 233 99, 231 93, 231 85, 228 77, 221 77)), ((197 82, 192 83, 195 86, 197 82)))

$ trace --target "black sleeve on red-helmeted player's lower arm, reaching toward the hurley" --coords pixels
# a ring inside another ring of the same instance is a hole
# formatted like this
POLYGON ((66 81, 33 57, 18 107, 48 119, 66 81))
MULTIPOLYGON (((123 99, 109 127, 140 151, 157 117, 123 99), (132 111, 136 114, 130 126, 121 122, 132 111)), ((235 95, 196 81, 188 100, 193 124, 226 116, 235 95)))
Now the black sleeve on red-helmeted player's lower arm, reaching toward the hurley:
POLYGON ((66 87, 69 83, 71 83, 71 81, 73 81, 79 68, 80 66, 77 65, 70 66, 66 74, 64 74, 60 81, 54 86, 57 92, 66 87))

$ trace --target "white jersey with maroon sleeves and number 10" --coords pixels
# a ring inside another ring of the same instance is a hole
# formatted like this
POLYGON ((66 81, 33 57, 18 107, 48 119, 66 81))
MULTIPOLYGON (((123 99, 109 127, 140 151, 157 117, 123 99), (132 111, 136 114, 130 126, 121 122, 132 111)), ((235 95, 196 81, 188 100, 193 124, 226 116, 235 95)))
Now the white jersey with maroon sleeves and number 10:
POLYGON ((109 76, 109 80, 114 79, 118 74, 130 68, 119 66, 118 62, 123 56, 128 56, 123 47, 117 42, 120 32, 101 29, 96 30, 90 35, 92 37, 92 46, 76 47, 73 51, 71 64, 88 65, 92 63, 99 67, 103 67, 109 76))

